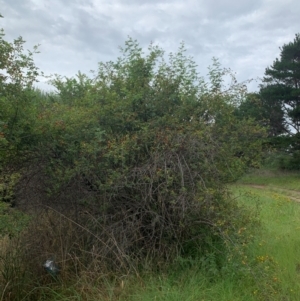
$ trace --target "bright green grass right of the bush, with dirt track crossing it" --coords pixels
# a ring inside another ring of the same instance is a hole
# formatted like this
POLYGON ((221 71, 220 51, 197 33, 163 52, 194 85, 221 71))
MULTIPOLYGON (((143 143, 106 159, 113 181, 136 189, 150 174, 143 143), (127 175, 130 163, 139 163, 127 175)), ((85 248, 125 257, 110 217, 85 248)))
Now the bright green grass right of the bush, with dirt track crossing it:
POLYGON ((137 283, 122 300, 300 300, 300 203, 294 200, 300 175, 258 171, 230 189, 241 204, 258 212, 261 222, 235 262, 237 269, 244 266, 244 275, 229 265, 227 273, 210 279, 195 263, 180 274, 137 283))

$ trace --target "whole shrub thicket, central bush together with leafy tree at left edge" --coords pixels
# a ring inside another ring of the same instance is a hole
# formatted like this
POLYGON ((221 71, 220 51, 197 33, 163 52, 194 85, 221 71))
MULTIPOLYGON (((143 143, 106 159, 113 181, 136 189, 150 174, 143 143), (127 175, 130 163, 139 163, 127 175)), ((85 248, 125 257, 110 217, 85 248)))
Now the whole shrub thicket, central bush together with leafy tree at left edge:
POLYGON ((225 87, 230 71, 213 60, 206 82, 183 45, 145 54, 129 39, 92 77, 53 77, 45 94, 23 41, 0 44, 0 193, 40 217, 21 239, 28 264, 58 253, 128 269, 222 253, 246 220, 226 184, 259 164, 265 135, 233 114, 245 91, 225 87))

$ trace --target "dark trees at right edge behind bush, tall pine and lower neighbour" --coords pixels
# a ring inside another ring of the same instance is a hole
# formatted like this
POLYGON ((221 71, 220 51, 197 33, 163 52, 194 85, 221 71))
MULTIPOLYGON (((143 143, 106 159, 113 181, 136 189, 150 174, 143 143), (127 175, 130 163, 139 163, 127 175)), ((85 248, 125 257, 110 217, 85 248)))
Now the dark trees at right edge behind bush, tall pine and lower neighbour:
POLYGON ((248 94, 237 114, 267 128, 266 145, 282 154, 281 168, 300 169, 300 34, 280 51, 266 68, 259 92, 248 94))

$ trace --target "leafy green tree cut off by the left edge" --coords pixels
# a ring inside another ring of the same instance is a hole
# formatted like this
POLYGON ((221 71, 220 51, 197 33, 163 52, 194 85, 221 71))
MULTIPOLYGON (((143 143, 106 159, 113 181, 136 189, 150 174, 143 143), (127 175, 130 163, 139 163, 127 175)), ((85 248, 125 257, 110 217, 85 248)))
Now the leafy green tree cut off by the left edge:
POLYGON ((34 142, 35 95, 32 85, 38 68, 33 61, 33 51, 24 52, 25 41, 19 37, 13 42, 4 40, 0 32, 0 164, 22 157, 26 147, 34 142), (16 155, 18 153, 18 155, 16 155))

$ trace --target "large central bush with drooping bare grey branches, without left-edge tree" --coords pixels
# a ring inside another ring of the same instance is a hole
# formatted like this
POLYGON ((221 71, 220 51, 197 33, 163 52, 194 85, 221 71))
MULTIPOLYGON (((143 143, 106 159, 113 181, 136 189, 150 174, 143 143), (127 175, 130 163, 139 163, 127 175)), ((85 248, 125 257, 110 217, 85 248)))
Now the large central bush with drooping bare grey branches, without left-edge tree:
POLYGON ((217 221, 226 224, 234 208, 224 183, 259 164, 264 131, 233 115, 244 90, 222 91, 229 71, 217 60, 207 84, 183 45, 168 60, 153 45, 145 55, 131 39, 121 52, 116 63, 100 63, 92 80, 52 81, 58 97, 39 121, 48 161, 39 185, 50 203, 63 191, 71 202, 77 191, 80 210, 97 221, 91 231, 102 229, 99 253, 113 250, 114 264, 126 267, 129 254, 137 262, 172 258, 185 253, 186 241, 204 250, 205 233, 220 235, 217 221))

